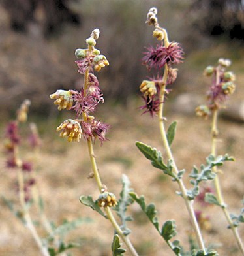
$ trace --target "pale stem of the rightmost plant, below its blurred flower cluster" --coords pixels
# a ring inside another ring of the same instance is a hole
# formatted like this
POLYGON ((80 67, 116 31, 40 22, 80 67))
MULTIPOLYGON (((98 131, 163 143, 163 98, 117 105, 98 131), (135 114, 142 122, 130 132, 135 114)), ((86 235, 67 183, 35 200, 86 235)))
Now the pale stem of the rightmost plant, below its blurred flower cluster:
MULTIPOLYGON (((218 120, 218 110, 215 108, 213 110, 213 121, 212 121, 212 127, 211 127, 211 140, 212 140, 212 146, 211 146, 211 154, 216 157, 217 156, 217 135, 218 135, 218 129, 217 129, 217 120, 218 120)), ((218 172, 217 167, 213 167, 213 171, 215 173, 218 172)), ((221 184, 219 181, 219 176, 215 176, 214 180, 215 184, 215 190, 216 190, 216 195, 219 203, 222 205, 222 211, 224 212, 224 216, 226 217, 226 220, 230 226, 230 229, 232 230, 234 234, 234 238, 236 239, 237 245, 242 253, 244 255, 244 246, 241 241, 241 238, 239 236, 239 232, 237 230, 237 227, 233 225, 232 219, 230 218, 230 214, 226 208, 226 203, 224 202, 224 198, 222 196, 222 191, 221 191, 221 184)))

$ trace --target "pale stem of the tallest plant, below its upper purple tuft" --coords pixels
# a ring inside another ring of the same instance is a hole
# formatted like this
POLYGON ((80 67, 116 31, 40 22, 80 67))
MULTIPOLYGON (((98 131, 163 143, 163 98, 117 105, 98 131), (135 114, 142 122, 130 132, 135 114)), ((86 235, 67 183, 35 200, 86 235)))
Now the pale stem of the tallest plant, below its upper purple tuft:
MULTIPOLYGON (((177 174, 179 172, 179 170, 177 168, 177 165, 174 161, 174 157, 170 150, 170 145, 168 144, 168 139, 166 136, 166 130, 164 128, 164 119, 165 118, 163 117, 163 110, 164 110, 164 95, 166 93, 167 76, 168 76, 168 65, 165 65, 164 76, 162 78, 163 86, 160 89, 160 98, 159 98, 159 101, 161 102, 161 104, 159 106, 159 112, 158 112, 159 127, 160 127, 160 134, 162 136, 162 142, 166 149, 166 154, 168 155, 168 159, 172 159, 173 170, 174 170, 175 174, 177 174)), ((187 206, 187 210, 188 210, 189 216, 191 218, 192 227, 193 227, 194 233, 196 235, 196 240, 198 241, 198 246, 200 249, 202 249, 204 251, 204 253, 206 253, 206 249, 204 246, 204 240, 203 240, 202 234, 200 232, 198 221, 196 220, 196 215, 194 214, 194 208, 192 206, 192 203, 187 198, 187 190, 185 189, 185 185, 183 184, 183 181, 181 179, 178 179, 177 183, 179 184, 179 189, 181 191, 181 195, 185 201, 185 205, 187 206)))

